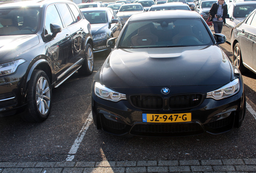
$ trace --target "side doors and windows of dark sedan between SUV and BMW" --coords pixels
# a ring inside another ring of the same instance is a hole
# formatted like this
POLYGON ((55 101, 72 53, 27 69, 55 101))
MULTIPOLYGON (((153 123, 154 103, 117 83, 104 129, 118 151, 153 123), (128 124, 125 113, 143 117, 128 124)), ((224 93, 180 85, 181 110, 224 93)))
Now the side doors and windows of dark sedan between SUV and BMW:
POLYGON ((120 18, 116 15, 116 13, 113 10, 110 10, 110 9, 107 12, 107 16, 108 16, 109 23, 111 23, 112 19, 118 19, 117 23, 110 24, 111 25, 110 29, 112 30, 113 36, 118 37, 122 30, 122 24, 121 24, 120 18))

